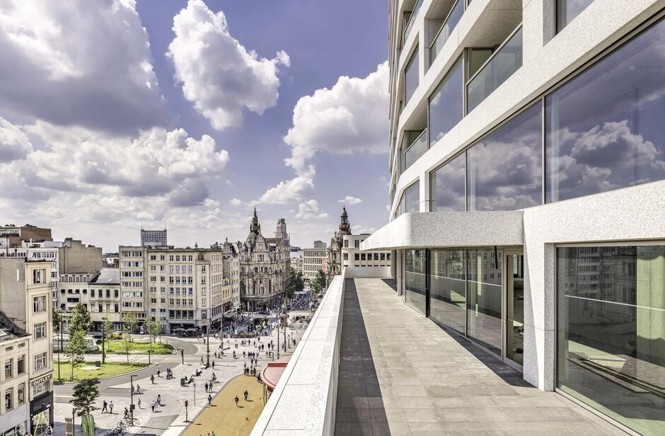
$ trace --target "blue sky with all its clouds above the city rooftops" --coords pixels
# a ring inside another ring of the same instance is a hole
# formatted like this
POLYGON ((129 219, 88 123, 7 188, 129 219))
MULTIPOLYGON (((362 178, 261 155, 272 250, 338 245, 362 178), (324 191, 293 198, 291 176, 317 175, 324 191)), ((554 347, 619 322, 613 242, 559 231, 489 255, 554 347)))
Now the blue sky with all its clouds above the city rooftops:
POLYGON ((115 251, 388 221, 386 0, 0 4, 0 224, 115 251))

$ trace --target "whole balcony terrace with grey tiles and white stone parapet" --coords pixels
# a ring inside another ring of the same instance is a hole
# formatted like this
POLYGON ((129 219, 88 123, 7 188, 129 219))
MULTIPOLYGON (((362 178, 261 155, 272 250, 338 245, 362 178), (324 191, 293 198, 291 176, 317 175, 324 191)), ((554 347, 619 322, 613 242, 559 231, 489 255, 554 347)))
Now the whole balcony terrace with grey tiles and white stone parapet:
POLYGON ((625 434, 353 270, 332 281, 252 435, 625 434))

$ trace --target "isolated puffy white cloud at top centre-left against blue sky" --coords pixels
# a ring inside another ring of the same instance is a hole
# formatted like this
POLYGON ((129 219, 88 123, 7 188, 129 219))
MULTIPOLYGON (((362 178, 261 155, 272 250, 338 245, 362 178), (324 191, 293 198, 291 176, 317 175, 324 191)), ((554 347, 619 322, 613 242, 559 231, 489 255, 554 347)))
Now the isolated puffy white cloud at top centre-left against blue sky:
POLYGON ((279 66, 289 67, 289 55, 259 58, 229 33, 224 12, 214 13, 202 0, 190 0, 173 18, 175 38, 167 55, 183 95, 210 120, 216 130, 238 126, 243 110, 261 115, 277 104, 279 66))

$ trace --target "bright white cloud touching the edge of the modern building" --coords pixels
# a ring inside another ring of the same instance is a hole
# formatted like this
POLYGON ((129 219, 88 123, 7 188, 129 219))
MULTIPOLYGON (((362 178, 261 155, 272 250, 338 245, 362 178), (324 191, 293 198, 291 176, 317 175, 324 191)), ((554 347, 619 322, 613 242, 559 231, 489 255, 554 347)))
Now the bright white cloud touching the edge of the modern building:
POLYGON ((287 165, 302 171, 316 151, 387 152, 388 79, 386 61, 364 79, 342 76, 332 88, 302 97, 284 137, 292 149, 287 165))

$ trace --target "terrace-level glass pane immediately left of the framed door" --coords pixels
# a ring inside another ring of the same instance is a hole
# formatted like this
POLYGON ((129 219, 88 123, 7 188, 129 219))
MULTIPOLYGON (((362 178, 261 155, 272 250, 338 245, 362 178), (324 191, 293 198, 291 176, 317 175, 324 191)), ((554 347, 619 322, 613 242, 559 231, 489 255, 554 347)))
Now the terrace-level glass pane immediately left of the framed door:
POLYGON ((468 251, 467 335, 488 350, 501 354, 501 249, 468 251))

